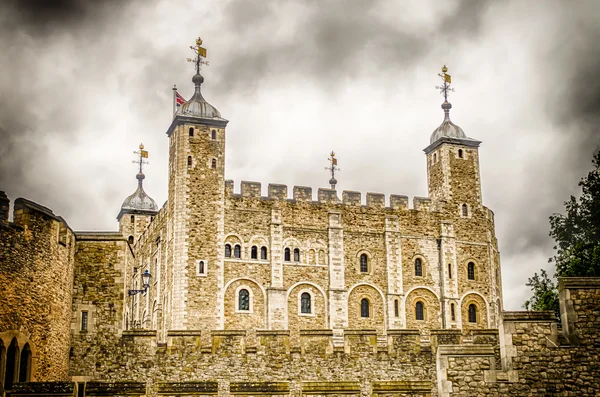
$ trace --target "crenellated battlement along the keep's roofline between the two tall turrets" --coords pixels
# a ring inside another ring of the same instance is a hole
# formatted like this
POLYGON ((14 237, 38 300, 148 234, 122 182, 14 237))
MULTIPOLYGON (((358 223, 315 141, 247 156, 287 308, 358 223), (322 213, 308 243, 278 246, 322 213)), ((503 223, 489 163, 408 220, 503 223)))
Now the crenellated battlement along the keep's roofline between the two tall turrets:
MULTIPOLYGON (((313 199, 313 189, 308 186, 294 186, 292 197, 288 196, 288 186, 269 183, 267 196, 262 195, 262 184, 260 182, 242 181, 240 183, 240 193, 234 192, 234 181, 228 179, 225 181, 225 194, 234 198, 259 198, 263 200, 281 200, 308 202, 313 204, 344 204, 355 207, 372 208, 391 208, 394 210, 408 210, 408 196, 392 194, 389 196, 389 205, 386 205, 386 197, 383 193, 367 192, 365 195, 366 204, 363 204, 363 195, 361 192, 344 190, 341 199, 338 197, 338 191, 329 188, 317 189, 316 200, 313 199)), ((434 211, 432 201, 428 197, 414 197, 412 209, 417 211, 434 211)))

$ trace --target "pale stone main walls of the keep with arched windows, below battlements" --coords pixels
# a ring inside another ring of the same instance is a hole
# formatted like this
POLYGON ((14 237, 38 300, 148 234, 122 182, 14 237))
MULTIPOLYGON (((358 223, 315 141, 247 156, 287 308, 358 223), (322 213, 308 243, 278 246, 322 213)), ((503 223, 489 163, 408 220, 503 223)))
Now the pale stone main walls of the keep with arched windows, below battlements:
MULTIPOLYGON (((397 328, 495 327, 501 281, 492 212, 475 206, 463 215, 434 208, 426 198, 413 201, 410 209, 406 196, 392 195, 386 207, 383 194, 367 193, 362 205, 359 192, 344 191, 340 200, 331 189, 319 189, 313 201, 312 190, 299 186, 288 199, 287 187, 273 184, 261 197, 259 183, 242 182, 241 193, 234 194, 227 181, 222 274, 210 258, 189 253, 185 275, 179 275, 187 290, 186 328, 214 329, 208 326, 214 319, 202 321, 201 308, 207 306, 223 313, 223 329, 364 328, 383 334, 397 328), (421 275, 415 273, 417 261, 421 275), (238 310, 241 289, 250 293, 246 312, 238 310), (309 315, 300 310, 303 293, 311 297, 309 315), (363 299, 368 317, 361 316, 363 299), (416 320, 417 302, 423 304, 423 320, 416 320)), ((131 318, 133 307, 133 318, 143 328, 158 329, 160 340, 173 328, 173 229, 165 206, 132 245, 135 260, 125 274, 128 288, 139 286, 146 269, 153 275, 148 294, 132 298, 123 316, 131 318)))

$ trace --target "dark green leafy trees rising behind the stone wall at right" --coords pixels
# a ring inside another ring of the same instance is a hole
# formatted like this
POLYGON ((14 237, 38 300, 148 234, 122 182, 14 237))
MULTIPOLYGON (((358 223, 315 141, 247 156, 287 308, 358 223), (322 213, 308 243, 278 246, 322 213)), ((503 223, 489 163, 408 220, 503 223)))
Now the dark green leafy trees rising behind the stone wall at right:
MULTIPOLYGON (((550 217, 550 237, 556 245, 550 258, 555 277, 600 277, 600 152, 592 159, 594 169, 581 179, 581 196, 565 202, 565 214, 550 217)), ((556 284, 545 270, 535 273, 526 285, 533 297, 523 305, 527 310, 554 310, 558 313, 556 284)))

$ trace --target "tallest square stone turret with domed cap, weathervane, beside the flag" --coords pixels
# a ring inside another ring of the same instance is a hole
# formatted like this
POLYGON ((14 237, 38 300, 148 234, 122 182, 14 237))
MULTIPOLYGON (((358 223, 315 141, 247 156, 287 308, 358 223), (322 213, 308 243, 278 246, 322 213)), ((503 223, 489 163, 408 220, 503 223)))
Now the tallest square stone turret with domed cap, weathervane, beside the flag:
POLYGON ((225 127, 227 120, 202 96, 196 53, 194 95, 175 113, 169 136, 169 212, 173 214, 173 293, 170 329, 223 327, 225 127))

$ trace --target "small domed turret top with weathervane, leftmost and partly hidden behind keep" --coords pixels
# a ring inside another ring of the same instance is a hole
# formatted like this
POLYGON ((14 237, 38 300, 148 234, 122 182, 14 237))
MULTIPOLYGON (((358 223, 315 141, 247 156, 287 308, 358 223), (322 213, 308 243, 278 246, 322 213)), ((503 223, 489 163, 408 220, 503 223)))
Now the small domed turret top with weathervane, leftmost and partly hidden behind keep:
POLYGON ((127 197, 121 205, 117 220, 119 221, 119 231, 127 236, 129 243, 133 244, 141 233, 146 230, 148 223, 158 212, 156 202, 146 194, 143 182, 146 176, 142 172, 144 158, 148 157, 148 152, 144 150, 144 145, 140 144, 139 155, 140 169, 135 178, 138 180, 138 187, 135 192, 127 197))

